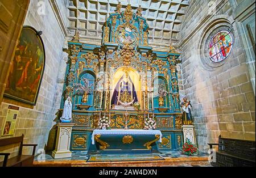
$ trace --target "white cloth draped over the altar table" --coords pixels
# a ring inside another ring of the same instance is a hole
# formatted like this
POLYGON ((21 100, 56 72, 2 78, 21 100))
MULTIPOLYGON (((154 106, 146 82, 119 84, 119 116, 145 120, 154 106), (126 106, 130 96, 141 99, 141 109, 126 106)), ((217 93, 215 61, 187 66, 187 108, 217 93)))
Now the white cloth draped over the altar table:
POLYGON ((92 145, 94 142, 94 135, 160 135, 159 142, 162 143, 162 133, 160 130, 138 130, 138 129, 111 129, 111 130, 93 130, 92 133, 92 145))

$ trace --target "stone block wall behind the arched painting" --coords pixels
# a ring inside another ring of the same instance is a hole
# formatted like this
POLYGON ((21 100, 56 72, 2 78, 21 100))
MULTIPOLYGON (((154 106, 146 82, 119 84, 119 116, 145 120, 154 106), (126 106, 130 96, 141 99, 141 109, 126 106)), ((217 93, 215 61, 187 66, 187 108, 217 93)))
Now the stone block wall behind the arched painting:
MULTIPOLYGON (((42 84, 35 106, 26 105, 4 98, 0 106, 0 132, 10 105, 20 107, 14 136, 24 134, 24 143, 37 143, 38 149, 47 149, 49 131, 55 125, 55 113, 60 107, 61 92, 65 74, 65 60, 63 47, 65 36, 57 23, 49 1, 45 2, 45 15, 38 14, 38 0, 30 1, 24 26, 32 26, 42 31, 42 39, 46 50, 46 67, 42 84)), ((15 5, 15 4, 14 4, 15 5)), ((12 137, 12 136, 11 136, 12 137)), ((5 137, 1 137, 5 138, 5 137)), ((11 151, 16 154, 18 147, 1 147, 0 151, 11 151), (8 150, 6 150, 8 149, 8 150)), ((24 148, 24 154, 31 149, 24 148)))

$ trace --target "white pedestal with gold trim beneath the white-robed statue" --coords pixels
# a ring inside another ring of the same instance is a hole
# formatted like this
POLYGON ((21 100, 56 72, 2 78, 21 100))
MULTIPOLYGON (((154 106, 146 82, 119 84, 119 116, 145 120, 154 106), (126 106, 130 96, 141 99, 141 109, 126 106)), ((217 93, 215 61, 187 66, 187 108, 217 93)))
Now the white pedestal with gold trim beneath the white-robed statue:
POLYGON ((52 157, 57 158, 69 158, 72 152, 69 150, 71 142, 71 131, 74 124, 72 123, 59 123, 57 124, 57 140, 55 150, 52 151, 52 157))

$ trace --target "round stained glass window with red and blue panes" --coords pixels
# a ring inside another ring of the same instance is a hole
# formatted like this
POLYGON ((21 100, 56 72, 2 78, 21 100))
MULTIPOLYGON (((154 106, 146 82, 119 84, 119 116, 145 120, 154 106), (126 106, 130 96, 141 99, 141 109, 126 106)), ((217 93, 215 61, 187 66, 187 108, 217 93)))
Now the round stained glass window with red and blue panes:
POLYGON ((229 56, 233 47, 233 36, 229 31, 218 31, 208 46, 208 54, 212 62, 221 62, 229 56))

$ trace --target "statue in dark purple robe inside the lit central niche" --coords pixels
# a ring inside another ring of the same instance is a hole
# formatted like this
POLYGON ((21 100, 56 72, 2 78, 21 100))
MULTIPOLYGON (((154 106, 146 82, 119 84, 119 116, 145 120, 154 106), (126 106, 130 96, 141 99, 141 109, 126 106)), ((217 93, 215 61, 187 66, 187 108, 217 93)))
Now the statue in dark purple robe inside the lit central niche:
POLYGON ((131 101, 135 103, 138 101, 133 81, 131 80, 127 71, 125 71, 125 74, 121 77, 121 79, 119 79, 117 85, 115 86, 111 104, 121 105, 119 101, 122 101, 123 103, 130 103, 131 101))

